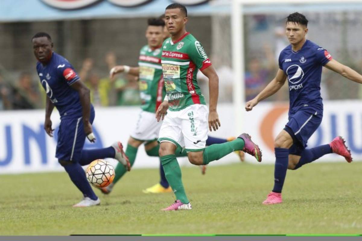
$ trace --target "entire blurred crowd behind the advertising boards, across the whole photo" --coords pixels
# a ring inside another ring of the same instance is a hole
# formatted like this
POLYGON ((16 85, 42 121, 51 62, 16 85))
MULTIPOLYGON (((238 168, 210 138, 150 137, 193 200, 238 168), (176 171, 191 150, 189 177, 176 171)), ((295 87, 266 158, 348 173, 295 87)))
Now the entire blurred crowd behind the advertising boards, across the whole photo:
MULTIPOLYGON (((270 81, 278 70, 278 55, 282 46, 286 46, 283 29, 275 30, 275 46, 264 44, 258 52, 247 53, 245 61, 245 100, 253 99, 270 81)), ((217 56, 211 56, 214 68, 219 75, 219 102, 232 102, 234 76, 230 66, 223 65, 217 56)), ((138 78, 129 74, 119 74, 109 78, 109 70, 117 63, 113 52, 106 53, 104 61, 107 69, 94 65, 94 60, 87 58, 80 68, 76 68, 79 77, 90 89, 90 98, 94 106, 137 106, 140 105, 138 78)), ((362 61, 354 69, 362 72, 362 61)), ((45 91, 34 73, 22 72, 16 81, 5 78, 0 72, 0 111, 11 109, 37 109, 45 107, 45 91)), ((323 68, 321 94, 323 99, 362 99, 362 89, 346 81, 340 76, 323 68), (336 91, 337 90, 337 91, 336 91), (344 90, 338 91, 338 90, 344 90), (346 95, 345 91, 348 91, 346 95), (329 94, 332 93, 332 94, 329 94), (347 97, 346 97, 347 96, 347 97)), ((209 89, 207 78, 201 72, 198 83, 208 100, 209 89)), ((281 91, 268 101, 288 101, 287 82, 281 91)))

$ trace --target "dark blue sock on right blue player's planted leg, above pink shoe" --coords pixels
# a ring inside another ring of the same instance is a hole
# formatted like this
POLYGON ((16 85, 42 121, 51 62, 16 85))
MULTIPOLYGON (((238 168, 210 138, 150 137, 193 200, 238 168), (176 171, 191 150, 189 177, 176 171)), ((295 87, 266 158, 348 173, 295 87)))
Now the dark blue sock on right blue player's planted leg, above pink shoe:
POLYGON ((289 149, 275 147, 274 193, 281 193, 289 162, 289 149))

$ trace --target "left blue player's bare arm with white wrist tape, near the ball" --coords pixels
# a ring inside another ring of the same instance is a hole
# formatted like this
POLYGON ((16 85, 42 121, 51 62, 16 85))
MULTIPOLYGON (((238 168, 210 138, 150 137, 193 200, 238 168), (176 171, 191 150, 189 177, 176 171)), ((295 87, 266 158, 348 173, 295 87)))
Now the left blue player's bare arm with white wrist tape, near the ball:
POLYGON ((90 124, 90 90, 82 81, 76 81, 71 85, 72 89, 76 90, 79 94, 80 103, 82 105, 82 120, 84 125, 84 132, 90 142, 95 142, 92 124, 90 124))

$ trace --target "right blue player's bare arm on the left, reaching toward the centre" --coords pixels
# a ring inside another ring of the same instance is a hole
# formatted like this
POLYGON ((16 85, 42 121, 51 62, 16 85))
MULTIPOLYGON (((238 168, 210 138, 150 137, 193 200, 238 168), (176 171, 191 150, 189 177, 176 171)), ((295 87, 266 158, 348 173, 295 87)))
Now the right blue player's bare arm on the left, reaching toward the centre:
POLYGON ((274 95, 284 85, 287 76, 283 70, 278 69, 275 78, 254 99, 245 104, 245 110, 251 111, 260 101, 274 95))

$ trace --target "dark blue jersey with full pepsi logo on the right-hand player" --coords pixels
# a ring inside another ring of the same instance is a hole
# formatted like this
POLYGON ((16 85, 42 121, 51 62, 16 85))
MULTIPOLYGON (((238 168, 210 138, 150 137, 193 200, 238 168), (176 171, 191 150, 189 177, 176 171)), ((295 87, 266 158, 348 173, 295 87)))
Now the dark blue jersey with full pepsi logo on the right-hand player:
POLYGON ((322 67, 331 59, 327 50, 310 40, 306 40, 298 52, 294 52, 291 45, 282 50, 279 68, 288 79, 289 115, 303 107, 323 113, 320 95, 322 67))

